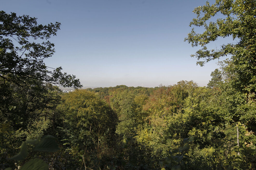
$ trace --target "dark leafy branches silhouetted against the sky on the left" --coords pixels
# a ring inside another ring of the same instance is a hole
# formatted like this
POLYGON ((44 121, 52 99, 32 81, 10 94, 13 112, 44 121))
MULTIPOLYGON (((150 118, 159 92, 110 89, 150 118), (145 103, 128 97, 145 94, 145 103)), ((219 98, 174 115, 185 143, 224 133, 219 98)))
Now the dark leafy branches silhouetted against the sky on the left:
POLYGON ((61 67, 52 69, 44 63, 54 53, 54 44, 48 39, 59 29, 59 22, 41 25, 37 24, 37 18, 0 11, 0 77, 21 86, 32 79, 81 87, 74 75, 61 73, 61 67))

